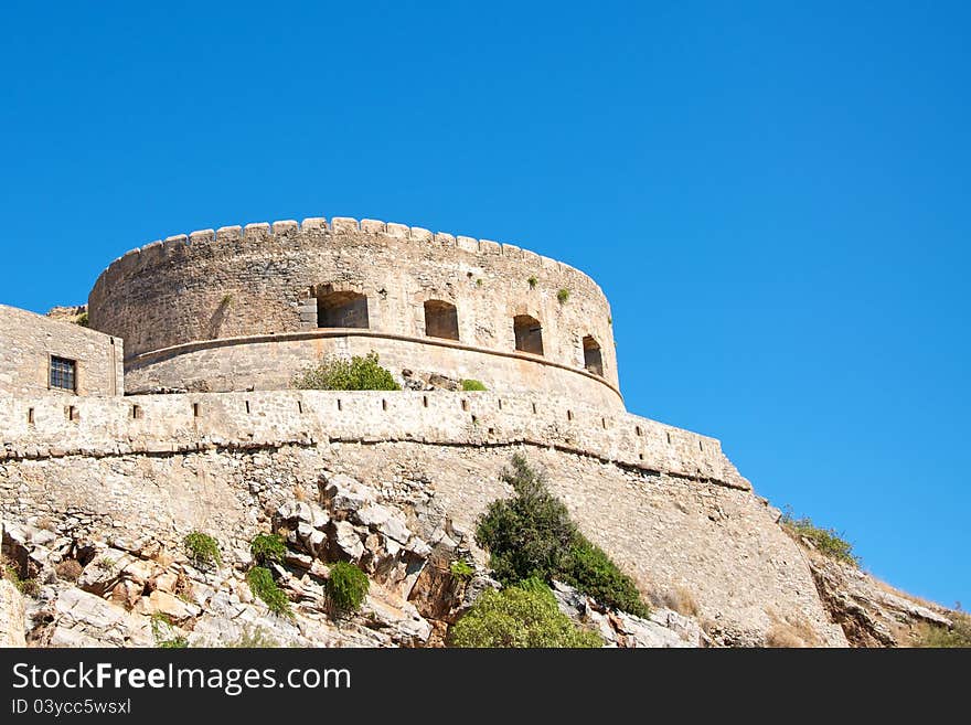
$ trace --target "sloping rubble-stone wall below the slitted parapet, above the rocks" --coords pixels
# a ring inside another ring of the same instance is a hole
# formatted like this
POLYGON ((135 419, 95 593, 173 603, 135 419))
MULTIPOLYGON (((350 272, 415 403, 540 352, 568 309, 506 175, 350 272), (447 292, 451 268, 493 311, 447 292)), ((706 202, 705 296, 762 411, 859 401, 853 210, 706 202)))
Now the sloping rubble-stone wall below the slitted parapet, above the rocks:
MULTIPOLYGON (((700 620, 719 641, 759 644, 777 622, 790 622, 807 643, 845 644, 805 561, 776 524, 778 512, 748 490, 530 443, 477 447, 375 437, 248 446, 8 458, 0 461, 0 513, 126 551, 152 542, 174 551, 200 530, 218 540, 228 562, 246 562, 248 542, 268 529, 279 504, 268 492, 314 495, 321 472, 332 471, 353 476, 385 501, 434 492, 471 543, 478 514, 509 493, 500 470, 522 452, 546 470, 583 531, 645 595, 690 591, 700 620)), ((484 554, 473 552, 484 563, 484 554)))

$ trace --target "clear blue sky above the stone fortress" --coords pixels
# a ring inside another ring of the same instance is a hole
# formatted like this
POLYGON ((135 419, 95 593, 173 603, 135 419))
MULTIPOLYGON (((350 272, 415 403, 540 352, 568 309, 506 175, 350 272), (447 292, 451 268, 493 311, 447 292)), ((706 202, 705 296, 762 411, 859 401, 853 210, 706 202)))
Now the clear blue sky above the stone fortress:
POLYGON ((971 6, 0 7, 0 301, 306 216, 520 244, 613 305, 628 407, 971 605, 971 6))

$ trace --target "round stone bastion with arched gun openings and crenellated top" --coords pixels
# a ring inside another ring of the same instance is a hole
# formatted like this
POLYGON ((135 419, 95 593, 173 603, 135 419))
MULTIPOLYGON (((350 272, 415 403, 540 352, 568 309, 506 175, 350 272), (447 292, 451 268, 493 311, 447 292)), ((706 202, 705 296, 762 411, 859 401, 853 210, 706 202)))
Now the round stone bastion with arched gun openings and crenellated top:
POLYGON ((488 239, 341 217, 205 230, 117 259, 88 306, 126 341, 129 392, 280 388, 373 349, 396 373, 622 406, 597 284, 488 239))

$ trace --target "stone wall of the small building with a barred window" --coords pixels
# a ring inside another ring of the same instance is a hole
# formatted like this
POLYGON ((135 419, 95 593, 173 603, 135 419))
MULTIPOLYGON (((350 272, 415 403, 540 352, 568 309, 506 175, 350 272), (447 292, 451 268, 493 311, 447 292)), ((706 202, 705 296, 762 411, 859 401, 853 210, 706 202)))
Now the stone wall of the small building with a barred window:
POLYGON ((124 358, 117 338, 0 305, 0 395, 122 395, 124 358), (76 363, 74 393, 51 390, 52 355, 76 363))

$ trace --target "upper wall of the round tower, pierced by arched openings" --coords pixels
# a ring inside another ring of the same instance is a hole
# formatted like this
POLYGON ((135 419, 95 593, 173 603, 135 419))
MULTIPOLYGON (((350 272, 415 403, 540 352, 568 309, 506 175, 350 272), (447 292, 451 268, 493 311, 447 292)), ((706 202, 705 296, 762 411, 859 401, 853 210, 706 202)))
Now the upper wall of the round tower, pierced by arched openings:
POLYGON ((515 350, 513 318, 531 316, 545 359, 583 371, 593 338, 604 377, 618 385, 610 308, 589 277, 517 246, 401 224, 309 218, 169 237, 111 264, 88 309, 93 328, 124 338, 137 356, 317 329, 326 292, 366 296, 371 330, 409 338, 426 334, 426 301, 455 305, 459 342, 503 353, 515 350))

